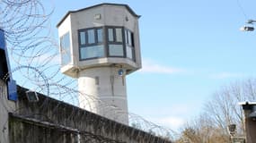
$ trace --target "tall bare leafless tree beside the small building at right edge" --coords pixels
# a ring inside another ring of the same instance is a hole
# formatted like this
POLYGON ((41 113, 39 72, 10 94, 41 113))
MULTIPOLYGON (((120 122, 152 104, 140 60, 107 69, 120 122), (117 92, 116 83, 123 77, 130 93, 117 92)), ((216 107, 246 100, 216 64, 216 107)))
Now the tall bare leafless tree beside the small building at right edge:
POLYGON ((256 99, 256 79, 235 82, 221 88, 207 102, 205 112, 216 126, 228 133, 227 126, 236 124, 237 133, 244 134, 243 109, 239 102, 256 99))

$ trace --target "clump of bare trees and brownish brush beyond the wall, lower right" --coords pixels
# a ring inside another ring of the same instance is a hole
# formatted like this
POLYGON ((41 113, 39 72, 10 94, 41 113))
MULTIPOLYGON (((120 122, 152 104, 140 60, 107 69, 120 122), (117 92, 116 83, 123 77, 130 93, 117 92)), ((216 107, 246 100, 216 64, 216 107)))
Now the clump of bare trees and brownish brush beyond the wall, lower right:
POLYGON ((220 88, 205 105, 203 114, 187 123, 177 143, 229 142, 227 126, 230 124, 236 124, 236 135, 244 137, 243 109, 238 103, 255 99, 256 79, 237 81, 220 88))

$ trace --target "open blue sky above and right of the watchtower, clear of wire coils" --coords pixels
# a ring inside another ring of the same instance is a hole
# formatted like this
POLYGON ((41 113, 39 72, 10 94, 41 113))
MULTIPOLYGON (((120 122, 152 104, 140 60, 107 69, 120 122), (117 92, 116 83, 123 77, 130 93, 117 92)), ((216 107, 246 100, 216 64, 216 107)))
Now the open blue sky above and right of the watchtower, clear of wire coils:
POLYGON ((203 110, 232 81, 256 75, 255 32, 240 31, 256 17, 252 0, 75 0, 55 5, 51 29, 67 11, 93 4, 128 4, 139 20, 143 68, 127 77, 129 111, 174 130, 203 110))

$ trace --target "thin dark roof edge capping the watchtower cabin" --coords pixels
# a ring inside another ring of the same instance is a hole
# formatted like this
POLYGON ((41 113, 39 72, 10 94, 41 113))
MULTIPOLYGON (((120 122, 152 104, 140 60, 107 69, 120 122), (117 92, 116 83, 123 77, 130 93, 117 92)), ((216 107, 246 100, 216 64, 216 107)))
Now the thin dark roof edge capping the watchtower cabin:
POLYGON ((137 15, 137 13, 135 13, 129 6, 128 4, 112 4, 112 3, 102 3, 102 4, 96 4, 96 5, 93 5, 93 6, 89 6, 89 7, 85 7, 83 9, 79 9, 79 10, 76 10, 76 11, 68 11, 65 16, 57 23, 57 27, 66 19, 66 17, 70 14, 70 13, 79 13, 79 12, 82 12, 82 11, 86 11, 86 10, 89 10, 89 9, 92 9, 92 8, 95 8, 95 7, 99 7, 99 6, 102 6, 102 5, 115 5, 115 6, 124 6, 127 8, 128 12, 131 13, 133 16, 139 18, 140 15, 137 15))

